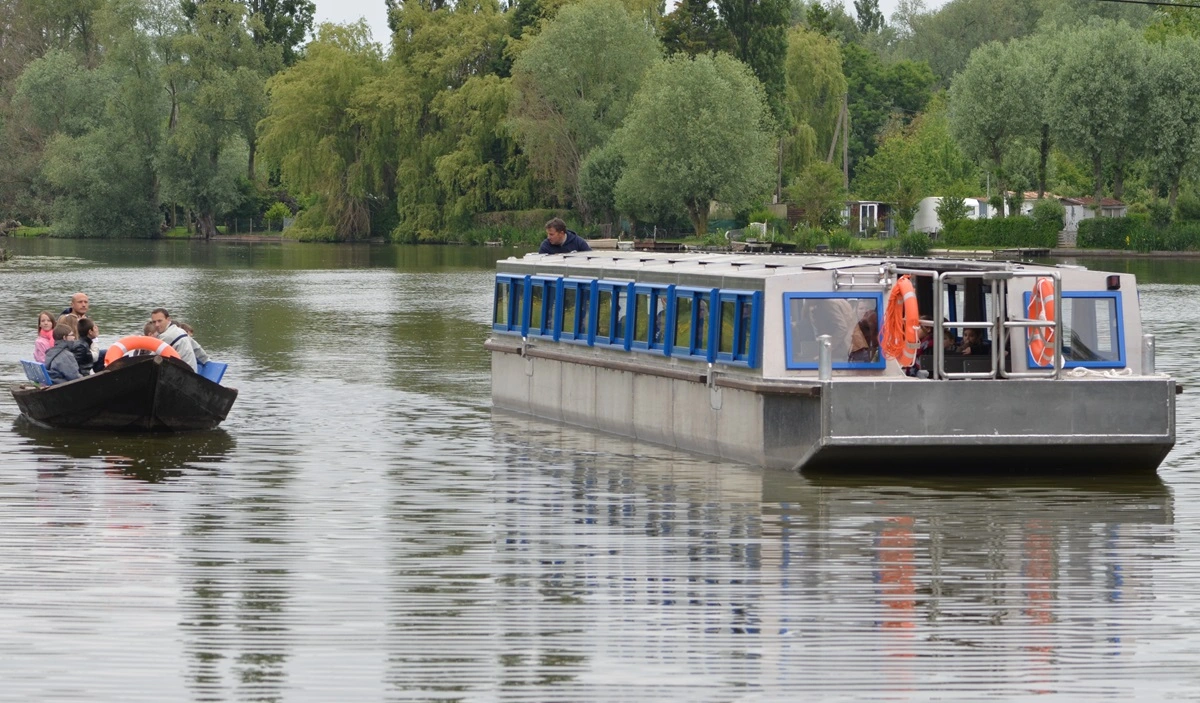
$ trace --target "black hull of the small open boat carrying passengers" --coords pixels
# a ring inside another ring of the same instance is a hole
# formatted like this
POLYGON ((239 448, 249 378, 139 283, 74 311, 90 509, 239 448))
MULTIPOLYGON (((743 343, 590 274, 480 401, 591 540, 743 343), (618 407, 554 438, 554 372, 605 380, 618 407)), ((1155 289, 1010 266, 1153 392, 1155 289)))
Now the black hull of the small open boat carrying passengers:
POLYGON ((220 425, 238 391, 178 359, 132 356, 73 381, 14 387, 12 397, 28 419, 49 427, 181 432, 220 425))

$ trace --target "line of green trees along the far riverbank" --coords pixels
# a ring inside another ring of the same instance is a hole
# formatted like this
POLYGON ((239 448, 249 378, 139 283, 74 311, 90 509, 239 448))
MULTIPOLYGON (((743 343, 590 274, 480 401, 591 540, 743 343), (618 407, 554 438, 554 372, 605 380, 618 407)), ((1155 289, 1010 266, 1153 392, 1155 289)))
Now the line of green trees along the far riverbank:
POLYGON ((1195 179, 1186 12, 379 1, 385 44, 313 29, 311 0, 0 0, 0 220, 211 236, 286 206, 313 239, 442 241, 557 209, 704 233, 714 200, 820 226, 851 193, 1174 204, 1195 179))

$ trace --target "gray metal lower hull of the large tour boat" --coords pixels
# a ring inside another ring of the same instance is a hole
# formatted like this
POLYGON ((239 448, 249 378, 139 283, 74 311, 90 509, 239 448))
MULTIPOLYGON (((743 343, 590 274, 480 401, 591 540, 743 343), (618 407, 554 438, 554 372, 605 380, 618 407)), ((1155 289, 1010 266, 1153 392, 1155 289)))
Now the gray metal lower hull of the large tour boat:
POLYGON ((767 467, 820 471, 1154 470, 1175 444, 1165 377, 787 386, 492 348, 496 407, 767 467), (745 387, 737 387, 745 386, 745 387), (756 389, 756 390, 751 390, 756 389))

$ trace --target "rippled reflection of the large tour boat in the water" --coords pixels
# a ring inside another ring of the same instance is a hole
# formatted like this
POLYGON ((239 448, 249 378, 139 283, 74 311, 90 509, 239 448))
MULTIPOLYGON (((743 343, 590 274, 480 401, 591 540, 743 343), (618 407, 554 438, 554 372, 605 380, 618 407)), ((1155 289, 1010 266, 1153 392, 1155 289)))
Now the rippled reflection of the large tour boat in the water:
MULTIPOLYGON (((740 651, 764 695, 948 692, 968 679, 1082 695, 1105 666, 1105 690, 1122 695, 1139 684, 1120 662, 1174 626, 1152 623, 1154 564, 1174 540, 1171 492, 1152 474, 815 477, 503 411, 493 422, 514 506, 497 516, 497 570, 505 552, 514 572, 539 555, 540 578, 521 585, 607 603, 570 623, 602 632, 620 666, 715 645, 740 651)), ((517 638, 522 597, 506 603, 517 638)))

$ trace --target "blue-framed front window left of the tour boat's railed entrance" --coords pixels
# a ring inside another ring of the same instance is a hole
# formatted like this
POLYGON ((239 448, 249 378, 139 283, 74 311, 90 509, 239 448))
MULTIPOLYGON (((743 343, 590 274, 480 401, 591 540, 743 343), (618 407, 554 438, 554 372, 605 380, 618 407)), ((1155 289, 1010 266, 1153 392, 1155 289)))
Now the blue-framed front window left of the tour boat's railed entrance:
POLYGON ((882 313, 882 293, 785 293, 785 366, 816 368, 817 337, 829 335, 834 368, 884 368, 882 313))

